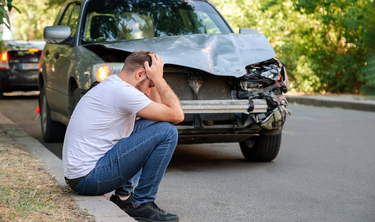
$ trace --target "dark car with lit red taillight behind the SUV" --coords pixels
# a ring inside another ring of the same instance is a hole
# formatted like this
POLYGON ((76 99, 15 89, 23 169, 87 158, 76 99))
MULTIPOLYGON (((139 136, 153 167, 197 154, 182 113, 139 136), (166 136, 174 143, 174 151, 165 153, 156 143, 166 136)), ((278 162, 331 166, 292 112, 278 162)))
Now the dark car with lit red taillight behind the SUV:
POLYGON ((0 98, 4 92, 38 90, 44 41, 0 41, 0 98))

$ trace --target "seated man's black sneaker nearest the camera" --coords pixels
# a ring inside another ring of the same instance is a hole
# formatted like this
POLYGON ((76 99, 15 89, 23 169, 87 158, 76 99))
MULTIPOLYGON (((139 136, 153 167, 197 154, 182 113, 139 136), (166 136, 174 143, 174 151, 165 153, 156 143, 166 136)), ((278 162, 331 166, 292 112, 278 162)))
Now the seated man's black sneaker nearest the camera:
POLYGON ((134 208, 132 203, 126 207, 125 213, 133 217, 138 222, 178 222, 180 218, 177 215, 167 213, 165 210, 160 209, 154 202, 142 204, 134 208))

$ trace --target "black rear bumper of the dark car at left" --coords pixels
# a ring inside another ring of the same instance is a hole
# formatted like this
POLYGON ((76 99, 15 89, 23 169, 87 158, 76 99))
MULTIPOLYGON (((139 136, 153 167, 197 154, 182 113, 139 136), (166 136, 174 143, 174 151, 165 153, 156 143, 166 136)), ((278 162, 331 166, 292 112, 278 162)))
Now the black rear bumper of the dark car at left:
POLYGON ((38 73, 36 71, 13 73, 10 70, 0 70, 0 91, 18 90, 38 90, 38 73))

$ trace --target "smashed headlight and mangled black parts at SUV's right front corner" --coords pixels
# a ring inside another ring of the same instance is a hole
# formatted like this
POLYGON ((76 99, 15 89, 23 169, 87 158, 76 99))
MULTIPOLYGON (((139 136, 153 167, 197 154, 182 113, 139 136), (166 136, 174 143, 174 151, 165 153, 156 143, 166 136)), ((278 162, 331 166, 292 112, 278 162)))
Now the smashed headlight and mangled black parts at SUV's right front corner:
MULTIPOLYGON (((288 79, 285 75, 284 64, 276 59, 270 59, 246 67, 247 74, 237 78, 234 84, 237 92, 234 99, 265 99, 267 101, 267 113, 237 114, 239 126, 247 127, 258 124, 263 129, 279 129, 290 115, 285 107, 288 105, 283 92, 288 92, 288 79)), ((249 112, 254 108, 250 102, 249 112)))

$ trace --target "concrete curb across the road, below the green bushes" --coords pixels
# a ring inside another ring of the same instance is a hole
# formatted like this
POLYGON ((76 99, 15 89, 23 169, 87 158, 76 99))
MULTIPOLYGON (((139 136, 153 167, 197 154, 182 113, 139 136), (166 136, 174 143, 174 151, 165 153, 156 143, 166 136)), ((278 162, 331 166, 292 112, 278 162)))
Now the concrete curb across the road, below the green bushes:
POLYGON ((353 99, 340 99, 326 96, 286 96, 290 103, 314 105, 317 107, 340 107, 351 110, 375 112, 375 101, 357 101, 353 99))

